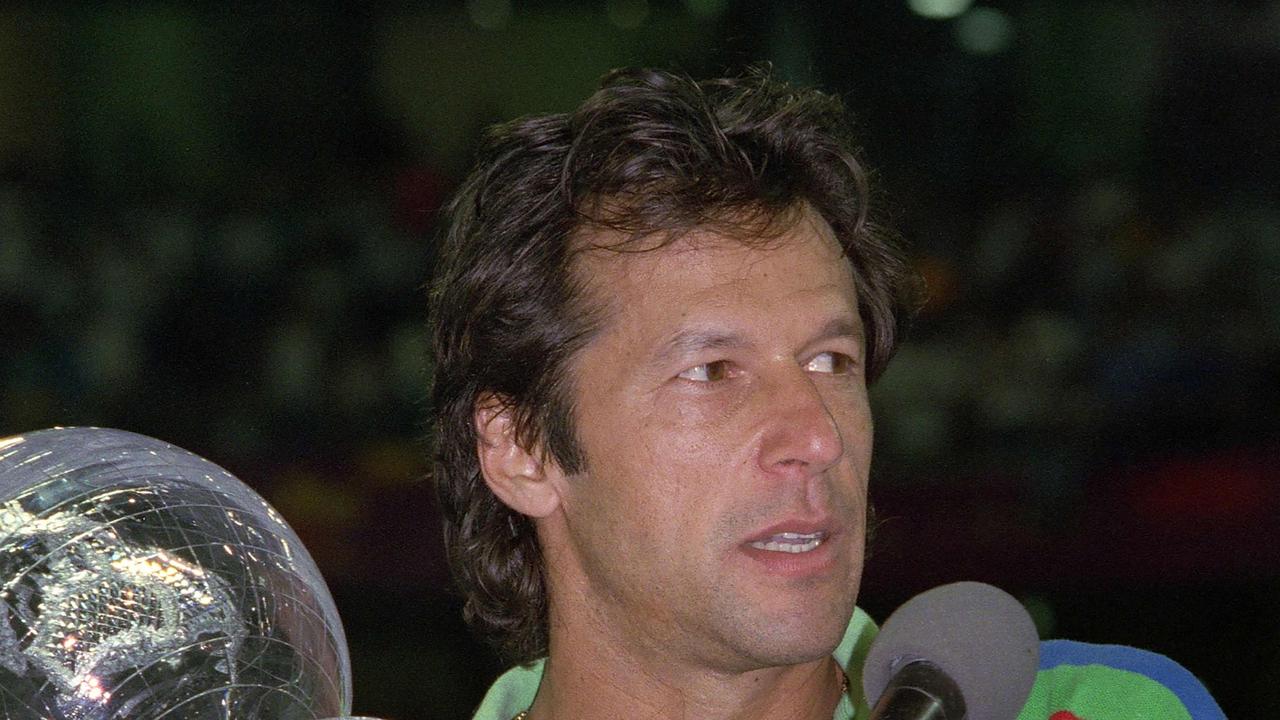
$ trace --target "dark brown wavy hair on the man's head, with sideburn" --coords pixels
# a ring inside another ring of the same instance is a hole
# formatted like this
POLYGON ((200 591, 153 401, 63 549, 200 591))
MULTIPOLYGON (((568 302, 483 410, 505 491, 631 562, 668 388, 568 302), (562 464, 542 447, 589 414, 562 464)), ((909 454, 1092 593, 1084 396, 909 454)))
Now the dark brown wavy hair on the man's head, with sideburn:
POLYGON ((838 99, 767 69, 707 82, 618 70, 572 113, 488 132, 448 208, 431 290, 434 482, 467 621, 507 660, 547 652, 543 557, 532 524, 480 477, 475 410, 504 404, 524 447, 582 470, 567 366, 604 320, 575 272, 584 238, 617 231, 613 247, 648 250, 705 228, 751 242, 806 206, 852 264, 874 379, 913 283, 872 219, 838 99))

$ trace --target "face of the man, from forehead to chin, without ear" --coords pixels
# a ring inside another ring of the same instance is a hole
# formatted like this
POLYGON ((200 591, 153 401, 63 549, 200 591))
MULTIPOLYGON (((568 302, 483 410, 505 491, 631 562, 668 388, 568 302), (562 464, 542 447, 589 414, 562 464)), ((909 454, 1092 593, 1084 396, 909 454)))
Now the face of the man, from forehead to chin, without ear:
POLYGON ((767 247, 695 232, 579 270, 609 313, 570 366, 586 470, 556 478, 541 529, 553 623, 724 671, 828 655, 858 594, 872 447, 829 227, 809 213, 767 247))

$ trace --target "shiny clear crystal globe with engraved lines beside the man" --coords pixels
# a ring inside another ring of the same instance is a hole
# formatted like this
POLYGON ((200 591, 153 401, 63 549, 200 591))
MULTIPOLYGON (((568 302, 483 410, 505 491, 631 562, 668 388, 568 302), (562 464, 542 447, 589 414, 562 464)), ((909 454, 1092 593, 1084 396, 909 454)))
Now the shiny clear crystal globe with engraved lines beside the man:
POLYGON ((123 430, 0 438, 0 717, 349 711, 333 598, 257 493, 123 430))

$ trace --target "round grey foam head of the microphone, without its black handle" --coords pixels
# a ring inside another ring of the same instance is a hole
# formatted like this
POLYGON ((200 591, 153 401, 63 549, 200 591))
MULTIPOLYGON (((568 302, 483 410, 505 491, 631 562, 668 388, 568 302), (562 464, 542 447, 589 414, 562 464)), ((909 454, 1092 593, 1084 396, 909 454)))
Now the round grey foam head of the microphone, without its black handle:
POLYGON ((863 691, 876 705, 899 669, 927 660, 964 696, 968 720, 1018 716, 1039 666, 1039 637, 1012 596, 983 583, 925 591, 899 607, 867 653, 863 691))

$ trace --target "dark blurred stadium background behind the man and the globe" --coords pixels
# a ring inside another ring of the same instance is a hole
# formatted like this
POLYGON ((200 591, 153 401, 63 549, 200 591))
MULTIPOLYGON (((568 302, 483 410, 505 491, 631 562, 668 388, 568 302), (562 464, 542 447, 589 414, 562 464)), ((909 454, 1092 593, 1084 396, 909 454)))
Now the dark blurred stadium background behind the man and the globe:
POLYGON ((844 95, 931 297, 877 387, 861 603, 995 582, 1280 712, 1280 1, 0 9, 0 436, 205 455, 321 565, 356 710, 468 717, 422 283, 480 129, 609 68, 844 95))

